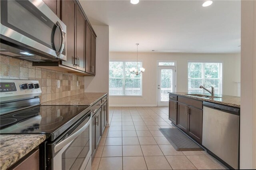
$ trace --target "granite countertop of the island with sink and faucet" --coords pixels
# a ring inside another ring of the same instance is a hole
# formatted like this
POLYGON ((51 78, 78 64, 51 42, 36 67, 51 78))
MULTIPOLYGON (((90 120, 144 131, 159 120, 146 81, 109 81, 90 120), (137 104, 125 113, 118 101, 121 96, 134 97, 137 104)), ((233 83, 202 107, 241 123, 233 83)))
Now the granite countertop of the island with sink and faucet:
POLYGON ((191 99, 208 101, 208 102, 217 103, 217 104, 221 104, 221 105, 240 108, 240 97, 238 97, 238 96, 214 95, 216 97, 221 97, 221 98, 205 98, 205 97, 190 96, 190 95, 186 95, 186 94, 200 94, 200 95, 210 95, 210 94, 208 94, 208 93, 188 93, 188 92, 169 92, 169 93, 174 94, 174 95, 189 97, 191 99))

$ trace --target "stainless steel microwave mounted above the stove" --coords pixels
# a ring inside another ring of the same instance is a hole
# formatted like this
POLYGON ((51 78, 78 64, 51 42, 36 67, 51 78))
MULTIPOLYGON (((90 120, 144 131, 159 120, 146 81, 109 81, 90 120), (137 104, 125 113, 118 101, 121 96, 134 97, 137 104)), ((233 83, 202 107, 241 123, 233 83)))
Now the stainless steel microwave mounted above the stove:
POLYGON ((0 21, 0 54, 66 61, 66 25, 42 0, 1 0, 0 21))

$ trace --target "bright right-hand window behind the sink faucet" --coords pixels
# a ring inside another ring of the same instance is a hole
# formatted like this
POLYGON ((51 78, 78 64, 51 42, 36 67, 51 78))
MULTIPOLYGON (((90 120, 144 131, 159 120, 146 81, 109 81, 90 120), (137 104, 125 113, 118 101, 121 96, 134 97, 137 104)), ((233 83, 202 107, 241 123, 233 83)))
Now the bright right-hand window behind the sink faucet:
POLYGON ((222 93, 222 63, 220 62, 188 62, 188 92, 208 93, 200 89, 200 85, 216 94, 222 93))

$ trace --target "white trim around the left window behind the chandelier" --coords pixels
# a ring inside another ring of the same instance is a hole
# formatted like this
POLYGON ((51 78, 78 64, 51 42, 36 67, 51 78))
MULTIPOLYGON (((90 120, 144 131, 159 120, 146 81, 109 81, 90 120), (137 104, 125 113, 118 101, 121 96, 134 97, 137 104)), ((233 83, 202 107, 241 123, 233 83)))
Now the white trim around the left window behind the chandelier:
MULTIPOLYGON (((114 62, 114 61, 116 61, 116 62, 121 62, 121 61, 122 62, 137 62, 136 59, 109 59, 108 65, 109 65, 109 62, 114 62)), ((143 60, 138 59, 138 62, 141 62, 141 67, 143 67, 143 60)), ((123 69, 123 71, 124 71, 124 69, 123 69)), ((141 73, 141 83, 140 83, 141 95, 110 95, 110 93, 109 93, 110 87, 108 87, 109 96, 111 96, 111 97, 143 97, 143 88, 142 88, 143 87, 143 76, 142 76, 142 74, 143 73, 141 73)), ((110 79, 109 73, 108 73, 108 79, 110 79)), ((122 78, 122 79, 124 80, 124 78, 122 78)))

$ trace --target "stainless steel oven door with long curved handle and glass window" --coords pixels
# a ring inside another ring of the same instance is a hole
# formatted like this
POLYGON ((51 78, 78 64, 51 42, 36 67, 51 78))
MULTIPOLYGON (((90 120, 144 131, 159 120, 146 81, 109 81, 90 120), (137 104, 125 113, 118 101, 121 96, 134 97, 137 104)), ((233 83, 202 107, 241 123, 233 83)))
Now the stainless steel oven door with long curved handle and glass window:
POLYGON ((48 158, 47 169, 84 170, 92 153, 91 113, 82 118, 68 132, 48 144, 52 158, 48 158))

